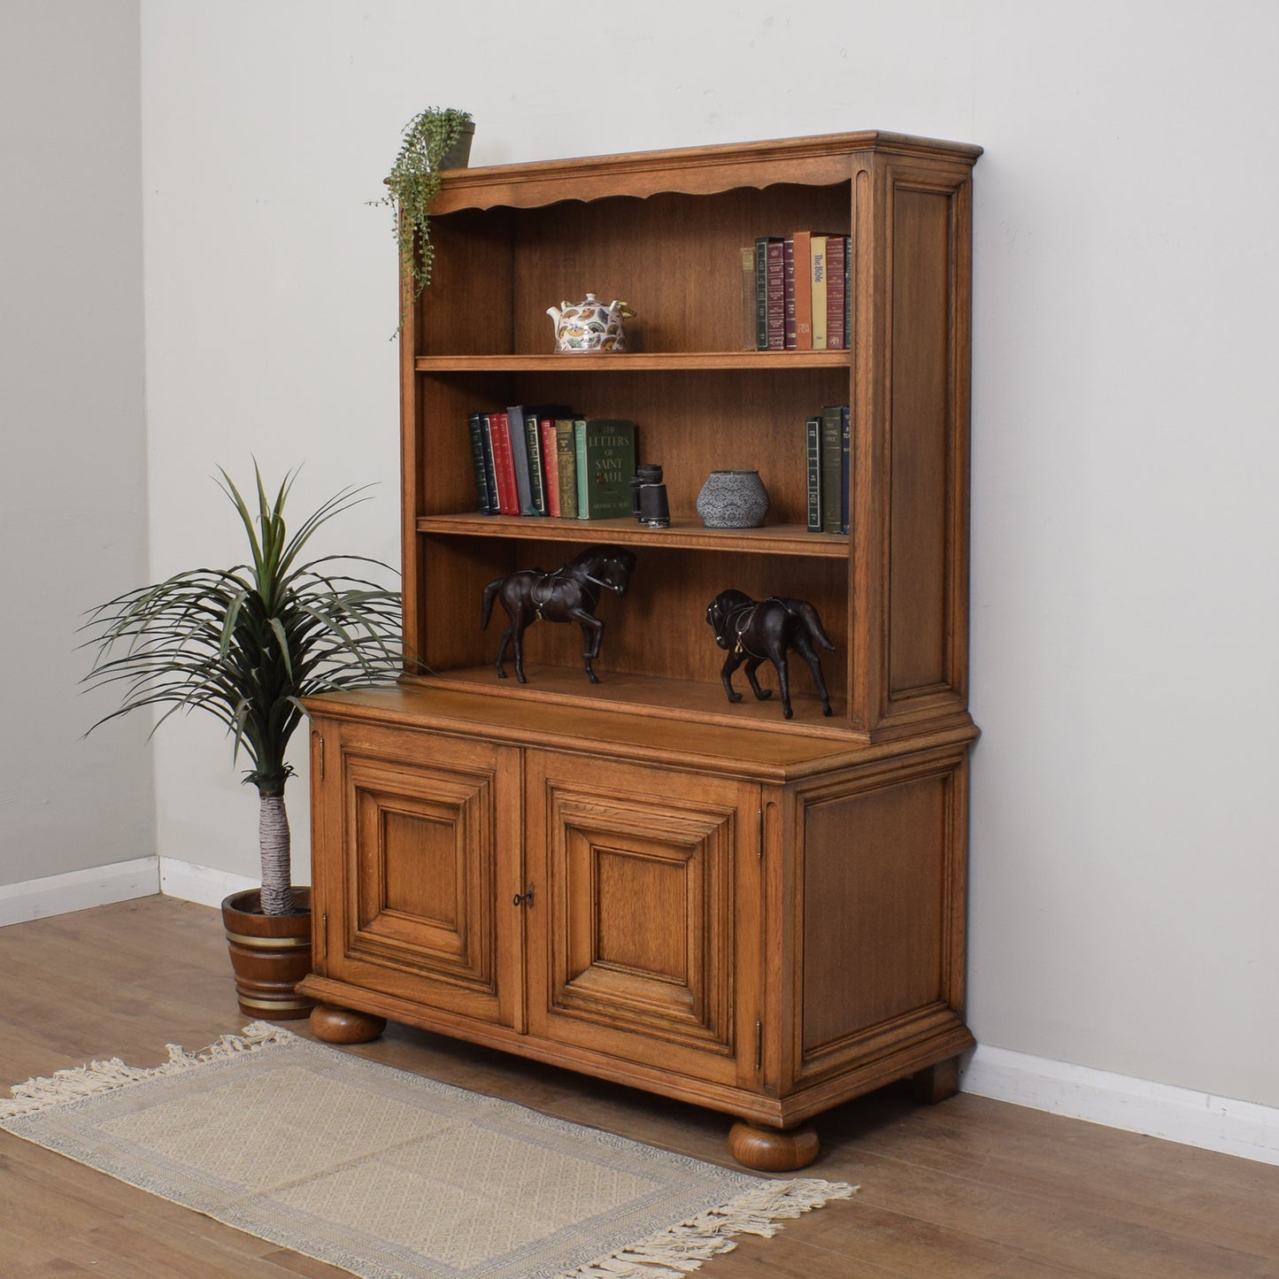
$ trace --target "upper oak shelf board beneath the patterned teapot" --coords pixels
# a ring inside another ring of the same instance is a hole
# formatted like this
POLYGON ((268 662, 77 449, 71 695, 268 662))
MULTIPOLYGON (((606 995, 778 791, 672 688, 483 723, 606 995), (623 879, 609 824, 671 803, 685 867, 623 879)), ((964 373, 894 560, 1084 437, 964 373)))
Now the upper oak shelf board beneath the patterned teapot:
POLYGON ((624 373, 721 368, 770 372, 801 368, 847 368, 847 350, 660 350, 568 352, 540 356, 418 356, 420 373, 624 373))

